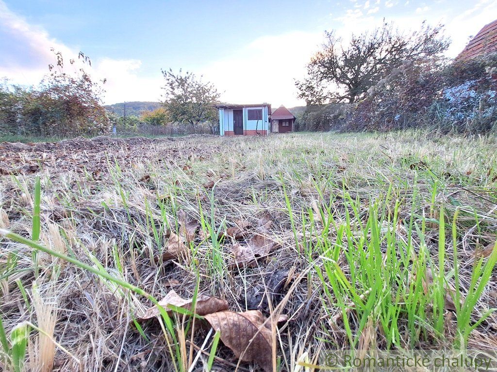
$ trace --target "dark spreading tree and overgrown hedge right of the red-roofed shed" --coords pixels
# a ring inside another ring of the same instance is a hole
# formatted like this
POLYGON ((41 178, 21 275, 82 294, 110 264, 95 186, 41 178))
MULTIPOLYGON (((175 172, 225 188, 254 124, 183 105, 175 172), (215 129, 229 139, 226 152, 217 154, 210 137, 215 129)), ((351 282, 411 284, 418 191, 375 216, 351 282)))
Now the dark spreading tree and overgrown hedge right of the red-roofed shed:
POLYGON ((451 61, 443 25, 403 32, 392 23, 352 35, 335 31, 295 85, 307 103, 300 130, 497 129, 497 54, 451 61))

